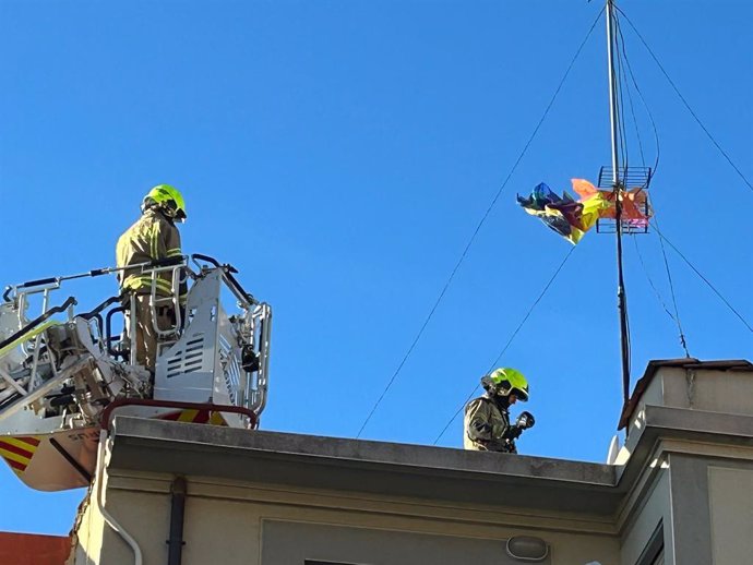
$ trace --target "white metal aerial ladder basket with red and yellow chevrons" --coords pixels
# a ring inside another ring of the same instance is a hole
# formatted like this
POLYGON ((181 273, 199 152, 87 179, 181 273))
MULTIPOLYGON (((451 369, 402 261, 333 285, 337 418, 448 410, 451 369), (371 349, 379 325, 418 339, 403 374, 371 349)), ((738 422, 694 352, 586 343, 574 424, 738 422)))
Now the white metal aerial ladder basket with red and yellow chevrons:
MULTIPOLYGON (((113 413, 255 429, 266 404, 272 310, 247 292, 236 269, 194 254, 130 266, 151 277, 158 336, 154 374, 136 363, 135 296, 115 296, 87 312, 74 297, 56 304, 65 281, 117 273, 33 280, 0 302, 0 456, 32 489, 91 483, 97 445, 113 413), (171 280, 171 292, 157 291, 171 280), (189 280, 186 304, 181 282, 189 280), (227 306, 223 299, 235 304, 227 306), (29 317, 32 304, 41 312, 29 317), (174 313, 157 327, 157 309, 174 313), (113 321, 123 332, 112 332, 113 321), (130 324, 125 330, 125 324, 130 324)), ((64 296, 64 294, 63 294, 64 296)))

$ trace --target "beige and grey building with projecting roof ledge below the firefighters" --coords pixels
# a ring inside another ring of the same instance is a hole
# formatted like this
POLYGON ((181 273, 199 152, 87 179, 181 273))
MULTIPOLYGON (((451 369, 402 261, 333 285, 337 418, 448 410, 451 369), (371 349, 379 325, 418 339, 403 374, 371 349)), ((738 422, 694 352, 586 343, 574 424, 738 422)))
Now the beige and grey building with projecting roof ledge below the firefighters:
POLYGON ((116 417, 69 563, 751 563, 753 365, 652 362, 621 423, 601 465, 116 417))

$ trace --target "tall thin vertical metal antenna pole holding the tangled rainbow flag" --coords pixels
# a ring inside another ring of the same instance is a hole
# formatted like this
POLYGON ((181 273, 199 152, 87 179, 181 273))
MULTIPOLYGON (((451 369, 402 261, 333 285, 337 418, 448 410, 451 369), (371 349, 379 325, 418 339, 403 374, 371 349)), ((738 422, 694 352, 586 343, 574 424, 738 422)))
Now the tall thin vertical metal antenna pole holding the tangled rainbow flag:
POLYGON ((609 123, 612 140, 612 191, 614 194, 614 221, 617 224, 617 300, 620 315, 620 352, 622 359, 622 399, 630 398, 630 336, 628 330, 628 299, 622 272, 622 201, 620 182, 620 157, 618 154, 618 83, 614 73, 614 5, 607 0, 607 58, 609 63, 609 123))

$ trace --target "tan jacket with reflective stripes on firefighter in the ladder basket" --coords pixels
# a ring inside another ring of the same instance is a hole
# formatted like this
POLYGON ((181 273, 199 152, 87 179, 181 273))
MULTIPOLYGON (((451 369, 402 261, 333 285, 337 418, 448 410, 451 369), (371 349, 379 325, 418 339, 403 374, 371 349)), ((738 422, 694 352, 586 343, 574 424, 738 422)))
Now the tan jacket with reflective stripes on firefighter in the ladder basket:
MULTIPOLYGON (((160 212, 147 209, 141 218, 118 239, 116 261, 118 267, 182 255, 178 228, 160 212)), ((141 268, 118 273, 120 288, 138 293, 151 291, 152 275, 141 268)), ((160 273, 157 278, 157 293, 169 296, 172 282, 170 272, 160 273)), ((186 302, 187 285, 180 285, 180 301, 186 302)))

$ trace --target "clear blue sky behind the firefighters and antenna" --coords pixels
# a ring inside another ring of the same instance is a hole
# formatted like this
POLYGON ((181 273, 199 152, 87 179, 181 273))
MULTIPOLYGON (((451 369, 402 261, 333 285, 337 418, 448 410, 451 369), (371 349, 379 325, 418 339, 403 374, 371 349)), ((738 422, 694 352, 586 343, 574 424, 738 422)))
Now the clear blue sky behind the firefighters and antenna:
MULTIPOLYGON (((750 3, 621 5, 753 178, 750 3)), ((0 281, 111 265, 144 193, 175 184, 184 251, 235 264, 274 308, 262 429, 355 437, 600 9, 0 0, 0 281)), ((753 324, 753 190, 623 33, 658 128, 659 226, 753 324)), ((434 443, 570 250, 515 194, 609 164, 603 34, 601 20, 363 438, 434 443)), ((691 354, 751 357, 751 332, 667 253, 691 354)), ((621 407, 614 265, 613 238, 588 233, 499 362, 530 382, 524 454, 606 457, 621 407)), ((626 239, 625 273, 634 383, 650 359, 684 352, 646 275, 671 304, 656 233, 626 239)), ((70 286, 84 304, 115 290, 70 286)), ((459 419, 438 445, 462 445, 459 419)), ((14 508, 0 530, 48 533, 70 529, 84 494, 36 493, 4 466, 0 493, 14 508)))

